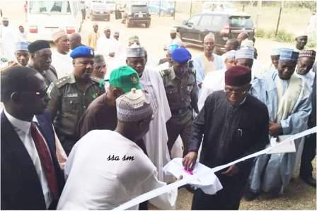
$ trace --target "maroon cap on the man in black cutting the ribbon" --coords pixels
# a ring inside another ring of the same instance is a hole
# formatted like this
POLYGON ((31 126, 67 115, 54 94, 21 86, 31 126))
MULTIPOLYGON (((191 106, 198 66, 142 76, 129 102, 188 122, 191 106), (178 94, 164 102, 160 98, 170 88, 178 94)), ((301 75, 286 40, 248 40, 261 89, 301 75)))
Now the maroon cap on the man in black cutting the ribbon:
POLYGON ((250 83, 251 71, 246 66, 233 66, 224 73, 226 85, 241 86, 250 83))

